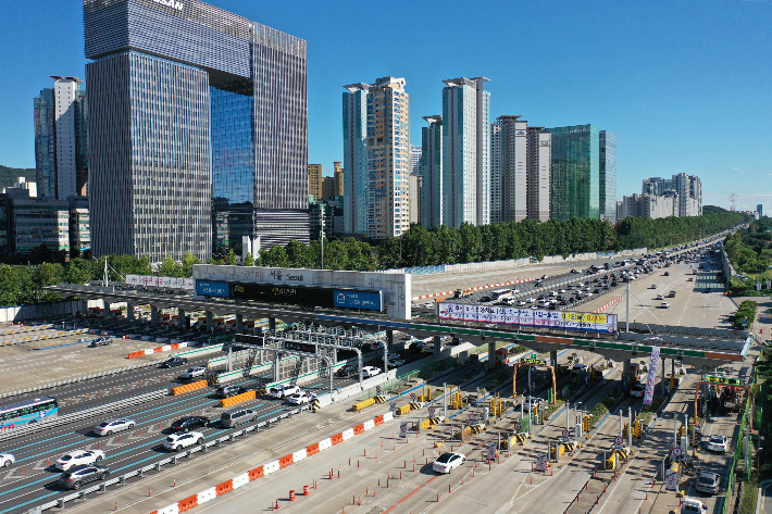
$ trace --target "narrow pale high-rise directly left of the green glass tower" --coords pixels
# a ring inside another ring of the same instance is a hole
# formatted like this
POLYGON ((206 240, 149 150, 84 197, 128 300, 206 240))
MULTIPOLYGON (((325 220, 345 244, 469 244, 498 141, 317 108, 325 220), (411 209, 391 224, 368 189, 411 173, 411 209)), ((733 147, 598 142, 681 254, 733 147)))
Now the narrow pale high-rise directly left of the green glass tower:
POLYGON ((552 176, 552 135, 544 127, 528 127, 527 217, 549 221, 552 176))

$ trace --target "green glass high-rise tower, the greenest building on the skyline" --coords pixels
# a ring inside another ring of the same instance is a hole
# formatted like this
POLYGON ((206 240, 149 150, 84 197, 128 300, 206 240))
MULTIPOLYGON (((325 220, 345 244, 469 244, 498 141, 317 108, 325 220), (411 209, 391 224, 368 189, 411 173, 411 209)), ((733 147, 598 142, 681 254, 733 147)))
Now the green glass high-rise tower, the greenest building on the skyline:
POLYGON ((593 125, 547 128, 552 135, 550 217, 600 215, 600 133, 593 125))

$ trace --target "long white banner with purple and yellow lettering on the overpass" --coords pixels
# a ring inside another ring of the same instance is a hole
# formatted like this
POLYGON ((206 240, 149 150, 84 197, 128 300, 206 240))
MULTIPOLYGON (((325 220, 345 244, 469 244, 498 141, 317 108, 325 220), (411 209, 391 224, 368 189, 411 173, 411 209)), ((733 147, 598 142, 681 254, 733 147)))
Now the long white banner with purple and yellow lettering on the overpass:
POLYGON ((440 303, 439 318, 457 322, 478 322, 521 327, 556 328, 561 330, 617 333, 615 314, 590 312, 548 311, 509 306, 440 303))

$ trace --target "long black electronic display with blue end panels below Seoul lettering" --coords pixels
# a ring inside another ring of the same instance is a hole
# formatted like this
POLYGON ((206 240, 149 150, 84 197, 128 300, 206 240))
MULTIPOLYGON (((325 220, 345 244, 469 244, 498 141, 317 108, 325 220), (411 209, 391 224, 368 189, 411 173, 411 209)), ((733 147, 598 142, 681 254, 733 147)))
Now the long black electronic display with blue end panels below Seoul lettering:
POLYGON ((381 291, 339 287, 196 280, 196 293, 267 303, 383 311, 381 291))

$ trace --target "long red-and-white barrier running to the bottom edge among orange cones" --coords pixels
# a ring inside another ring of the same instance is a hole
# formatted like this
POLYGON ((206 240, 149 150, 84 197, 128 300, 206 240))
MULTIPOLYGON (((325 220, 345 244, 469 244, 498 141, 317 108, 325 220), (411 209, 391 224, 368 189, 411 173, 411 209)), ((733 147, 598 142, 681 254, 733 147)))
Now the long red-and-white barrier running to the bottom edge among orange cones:
POLYGON ((250 469, 247 473, 242 473, 238 476, 235 476, 229 480, 225 480, 222 484, 217 484, 214 487, 204 489, 198 494, 192 494, 188 498, 166 505, 163 509, 153 511, 152 514, 179 514, 180 512, 189 511, 190 509, 197 505, 201 505, 203 503, 207 503, 208 501, 214 500, 215 498, 222 497, 223 494, 228 493, 234 489, 238 489, 239 487, 245 486, 250 481, 257 480, 258 478, 262 478, 265 475, 270 475, 271 473, 275 473, 279 469, 283 469, 302 459, 310 457, 323 450, 333 448, 335 444, 339 444, 346 439, 350 439, 360 434, 364 434, 366 430, 374 428, 378 425, 383 425, 384 423, 389 422, 391 419, 394 419, 394 414, 387 412, 383 416, 376 416, 373 419, 369 419, 360 425, 357 425, 356 427, 336 434, 333 437, 323 439, 319 442, 314 442, 313 444, 310 444, 294 453, 289 453, 277 461, 269 462, 266 464, 263 464, 262 466, 256 467, 254 469, 250 469))

